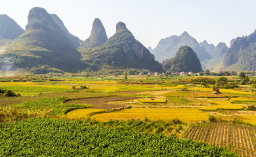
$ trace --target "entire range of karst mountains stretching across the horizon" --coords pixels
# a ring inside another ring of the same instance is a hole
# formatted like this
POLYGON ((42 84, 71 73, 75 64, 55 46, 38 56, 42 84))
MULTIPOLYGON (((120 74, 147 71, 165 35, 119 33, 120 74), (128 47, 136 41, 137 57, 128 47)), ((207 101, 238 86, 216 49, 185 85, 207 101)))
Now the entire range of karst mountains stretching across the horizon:
POLYGON ((163 71, 155 58, 163 62, 165 69, 173 71, 185 71, 182 66, 193 66, 188 58, 194 58, 196 68, 189 69, 192 72, 256 71, 256 31, 232 39, 230 48, 225 43, 217 46, 207 41, 198 43, 184 31, 180 36, 161 39, 152 49, 137 41, 123 22, 117 23, 116 33, 108 39, 102 22, 95 18, 91 35, 81 41, 56 14, 49 14, 43 8, 30 10, 26 31, 9 16, 0 15, 0 70, 24 68, 32 73, 76 73, 107 67, 163 71), (180 57, 184 54, 186 60, 180 57), (195 58, 200 60, 200 65, 195 58))

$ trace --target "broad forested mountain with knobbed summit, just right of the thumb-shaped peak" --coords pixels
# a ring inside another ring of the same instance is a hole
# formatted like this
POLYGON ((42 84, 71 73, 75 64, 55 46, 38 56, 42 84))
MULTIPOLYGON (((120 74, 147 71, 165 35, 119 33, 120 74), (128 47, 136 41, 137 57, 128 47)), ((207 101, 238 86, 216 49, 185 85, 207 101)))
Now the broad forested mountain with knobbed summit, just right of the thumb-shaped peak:
POLYGON ((162 71, 160 63, 154 60, 154 55, 135 39, 123 22, 117 23, 116 33, 106 43, 87 49, 87 54, 86 58, 100 65, 162 71))

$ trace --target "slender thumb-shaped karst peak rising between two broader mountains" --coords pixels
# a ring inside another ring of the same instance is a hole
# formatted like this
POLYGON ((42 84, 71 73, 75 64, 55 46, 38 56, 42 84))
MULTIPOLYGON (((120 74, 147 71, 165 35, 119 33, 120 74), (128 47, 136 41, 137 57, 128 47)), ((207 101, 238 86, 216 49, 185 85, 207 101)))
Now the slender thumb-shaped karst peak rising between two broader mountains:
POLYGON ((85 42, 81 45, 83 48, 93 48, 96 46, 100 46, 101 44, 105 43, 108 40, 106 35, 105 28, 100 21, 100 19, 95 18, 93 22, 93 28, 91 30, 91 35, 85 42))

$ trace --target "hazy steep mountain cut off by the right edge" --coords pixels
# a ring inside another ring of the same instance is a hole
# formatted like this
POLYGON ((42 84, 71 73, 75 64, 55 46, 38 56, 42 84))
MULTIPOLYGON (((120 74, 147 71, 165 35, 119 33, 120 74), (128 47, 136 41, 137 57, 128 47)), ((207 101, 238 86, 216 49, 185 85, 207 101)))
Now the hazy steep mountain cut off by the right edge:
POLYGON ((223 65, 225 68, 256 70, 256 30, 249 36, 238 37, 226 51, 223 65))

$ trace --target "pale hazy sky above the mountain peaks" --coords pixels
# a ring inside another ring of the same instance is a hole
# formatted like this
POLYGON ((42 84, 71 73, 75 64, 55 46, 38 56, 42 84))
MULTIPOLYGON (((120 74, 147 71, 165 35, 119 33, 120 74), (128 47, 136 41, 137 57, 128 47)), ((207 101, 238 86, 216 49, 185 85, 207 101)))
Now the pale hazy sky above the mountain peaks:
POLYGON ((57 14, 70 33, 85 40, 95 18, 108 37, 124 22, 144 46, 154 48, 160 39, 183 31, 198 42, 224 42, 256 29, 255 0, 0 0, 0 14, 7 14, 25 28, 28 12, 43 7, 57 14))

